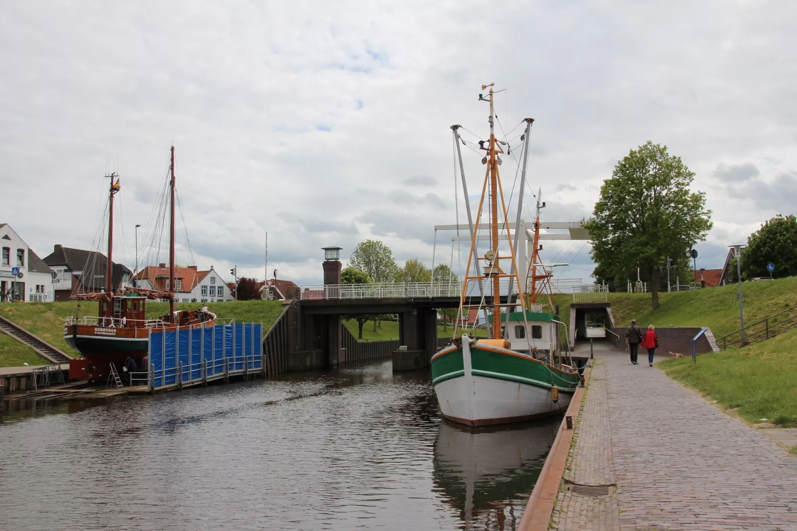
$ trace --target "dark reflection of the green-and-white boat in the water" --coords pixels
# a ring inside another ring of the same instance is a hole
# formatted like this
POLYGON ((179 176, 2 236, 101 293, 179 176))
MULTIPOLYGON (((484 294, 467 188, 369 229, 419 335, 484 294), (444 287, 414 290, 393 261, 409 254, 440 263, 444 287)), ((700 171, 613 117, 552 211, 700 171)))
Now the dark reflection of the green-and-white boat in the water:
POLYGON ((559 419, 480 429, 443 421, 435 490, 472 524, 467 529, 516 529, 558 427, 559 419))

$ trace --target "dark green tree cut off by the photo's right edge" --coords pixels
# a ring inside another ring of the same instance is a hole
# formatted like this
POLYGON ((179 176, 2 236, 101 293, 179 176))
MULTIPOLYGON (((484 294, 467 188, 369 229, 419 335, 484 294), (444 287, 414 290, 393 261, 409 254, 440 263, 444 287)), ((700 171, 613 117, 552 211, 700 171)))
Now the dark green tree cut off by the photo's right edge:
MULTIPOLYGON (((797 218, 778 214, 759 230, 750 234, 742 250, 742 278, 768 277, 768 262, 775 264, 775 274, 790 277, 797 274, 797 218)), ((736 264, 734 264, 734 267, 736 264)), ((736 269, 733 274, 736 275, 736 269)))

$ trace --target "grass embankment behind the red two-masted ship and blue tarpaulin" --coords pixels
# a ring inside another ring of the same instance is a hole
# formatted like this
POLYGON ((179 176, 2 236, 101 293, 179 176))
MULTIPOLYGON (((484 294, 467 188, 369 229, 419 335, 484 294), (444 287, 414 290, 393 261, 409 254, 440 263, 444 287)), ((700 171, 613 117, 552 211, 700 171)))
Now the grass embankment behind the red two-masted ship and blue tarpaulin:
MULTIPOLYGON (((179 303, 177 309, 196 309, 199 303, 179 303)), ((282 313, 280 301, 233 301, 207 303, 208 309, 220 318, 233 317, 238 322, 263 323, 267 330, 282 313)), ((155 318, 168 313, 169 303, 148 302, 147 317, 155 318)), ((0 304, 0 315, 26 328, 29 332, 61 349, 70 356, 79 356, 64 340, 64 321, 69 316, 95 316, 97 303, 77 301, 69 302, 14 302, 0 304)), ((6 334, 0 335, 0 367, 16 367, 27 362, 31 365, 49 364, 32 348, 11 339, 6 334)))

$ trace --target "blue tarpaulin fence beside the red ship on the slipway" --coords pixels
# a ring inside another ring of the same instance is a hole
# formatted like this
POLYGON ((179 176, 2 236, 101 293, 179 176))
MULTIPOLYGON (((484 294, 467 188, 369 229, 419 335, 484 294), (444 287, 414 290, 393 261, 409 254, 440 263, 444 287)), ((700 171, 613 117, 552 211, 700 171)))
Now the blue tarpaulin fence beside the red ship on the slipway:
POLYGON ((261 370, 263 325, 215 325, 153 330, 149 339, 154 388, 261 370))

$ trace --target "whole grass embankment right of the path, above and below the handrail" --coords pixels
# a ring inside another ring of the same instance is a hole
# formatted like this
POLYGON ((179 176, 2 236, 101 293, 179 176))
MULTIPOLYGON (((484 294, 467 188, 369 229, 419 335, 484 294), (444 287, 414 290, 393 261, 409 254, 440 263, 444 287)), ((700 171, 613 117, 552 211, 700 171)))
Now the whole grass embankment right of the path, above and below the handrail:
MULTIPOLYGON (((642 328, 708 326, 719 338, 739 329, 737 293, 735 284, 660 293, 661 307, 655 310, 650 307, 650 293, 610 293, 609 301, 618 327, 631 319, 642 328)), ((751 325, 797 305, 797 278, 744 282, 742 297, 744 322, 751 325)), ((697 364, 687 356, 662 361, 660 366, 674 380, 748 422, 797 426, 797 329, 748 347, 703 354, 697 364)))

